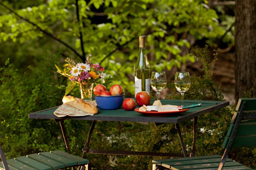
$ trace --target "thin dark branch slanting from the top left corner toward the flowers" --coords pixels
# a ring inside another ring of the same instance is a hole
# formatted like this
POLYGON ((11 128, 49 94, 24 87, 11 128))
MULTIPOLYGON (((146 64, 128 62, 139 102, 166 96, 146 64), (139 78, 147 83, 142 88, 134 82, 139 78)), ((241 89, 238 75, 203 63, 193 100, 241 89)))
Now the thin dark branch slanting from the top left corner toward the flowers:
POLYGON ((35 24, 34 22, 28 20, 27 18, 24 18, 23 16, 20 16, 18 13, 16 13, 14 10, 12 10, 11 8, 9 8, 8 6, 4 5, 2 3, 2 1, 0 1, 0 5, 2 5, 3 7, 5 7, 6 9, 8 9, 11 13, 15 14, 17 17, 19 17, 20 19, 23 19, 25 21, 27 21, 29 24, 35 26, 38 30, 40 30, 41 32, 43 32, 44 34, 52 37, 54 40, 58 41, 59 43, 65 45, 67 48, 69 48, 71 51, 73 51, 77 56, 79 56, 82 60, 83 57, 74 49, 72 48, 70 45, 68 45, 67 43, 63 42, 62 40, 60 40, 59 38, 55 37, 53 34, 43 30, 41 27, 39 27, 37 24, 35 24))

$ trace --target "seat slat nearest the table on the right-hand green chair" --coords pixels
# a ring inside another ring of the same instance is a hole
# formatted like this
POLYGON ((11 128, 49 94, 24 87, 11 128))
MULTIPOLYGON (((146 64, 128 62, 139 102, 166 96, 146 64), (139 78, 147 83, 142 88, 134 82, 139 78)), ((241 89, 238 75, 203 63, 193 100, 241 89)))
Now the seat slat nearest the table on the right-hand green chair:
POLYGON ((185 157, 185 158, 156 159, 156 160, 152 160, 152 164, 161 165, 162 163, 166 163, 166 162, 211 159, 211 158, 221 158, 221 157, 222 157, 221 155, 205 155, 205 156, 185 157))

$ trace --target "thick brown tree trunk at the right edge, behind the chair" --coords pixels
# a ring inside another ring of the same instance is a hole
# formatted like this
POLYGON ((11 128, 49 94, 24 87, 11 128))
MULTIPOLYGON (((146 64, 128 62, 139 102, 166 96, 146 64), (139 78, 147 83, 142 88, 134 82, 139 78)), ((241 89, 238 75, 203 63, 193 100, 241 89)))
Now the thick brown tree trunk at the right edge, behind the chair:
POLYGON ((256 0, 236 0, 235 18, 237 103, 256 94, 256 0))

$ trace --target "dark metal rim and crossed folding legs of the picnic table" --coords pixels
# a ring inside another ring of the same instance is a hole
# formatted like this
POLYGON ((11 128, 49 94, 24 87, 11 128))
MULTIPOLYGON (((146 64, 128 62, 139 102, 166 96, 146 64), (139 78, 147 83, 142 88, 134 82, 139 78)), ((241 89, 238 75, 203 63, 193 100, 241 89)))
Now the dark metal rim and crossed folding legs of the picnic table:
MULTIPOLYGON (((177 100, 168 100, 168 101, 177 101, 177 100)), ((199 103, 199 102, 204 102, 204 101, 185 101, 186 103, 199 103)), ((205 102, 209 102, 209 101, 205 101, 205 102)), ((213 102, 213 101, 211 101, 213 102)), ((58 118, 56 117, 53 113, 52 114, 42 114, 41 112, 44 111, 48 111, 54 108, 57 108, 59 106, 53 107, 53 108, 49 108, 49 109, 45 109, 45 110, 41 110, 41 111, 37 111, 34 113, 30 113, 29 114, 29 118, 30 119, 54 119, 56 122, 60 122, 60 127, 62 130, 62 135, 63 138, 65 140, 65 144, 66 144, 66 148, 69 154, 71 154, 71 150, 70 150, 70 146, 69 146, 69 142, 68 142, 68 138, 65 132, 65 127, 64 127, 64 120, 67 119, 71 119, 71 120, 92 120, 92 124, 88 133, 88 137, 87 140, 85 142, 84 148, 82 149, 83 151, 83 156, 82 158, 85 158, 86 153, 94 153, 94 154, 115 154, 115 155, 141 155, 141 156, 168 156, 168 157, 187 157, 187 152, 185 149, 185 145, 184 145, 184 141, 183 141, 183 137, 181 134, 181 130, 180 130, 180 125, 179 123, 185 121, 185 120, 191 120, 193 119, 193 144, 192 144, 192 152, 190 153, 189 156, 195 156, 195 152, 196 152, 196 125, 197 125, 197 117, 198 115, 202 115, 220 108, 223 108, 225 106, 229 105, 229 102, 219 102, 219 101, 214 101, 216 102, 216 104, 213 104, 210 107, 206 107, 200 110, 197 110, 195 112, 189 113, 189 114, 183 114, 181 116, 177 116, 175 117, 175 119, 173 117, 124 117, 124 116, 111 116, 111 117, 107 117, 104 116, 103 114, 100 115, 98 114, 97 116, 85 116, 85 117, 62 117, 62 118, 58 118), (41 113, 41 114, 40 114, 41 113), (177 129, 177 132, 179 134, 179 138, 180 138, 180 142, 181 142, 181 146, 182 146, 182 151, 183 154, 177 154, 177 153, 161 153, 161 152, 138 152, 138 151, 110 151, 110 150, 93 150, 89 148, 90 145, 90 138, 91 138, 91 134, 93 133, 96 121, 129 121, 129 122, 154 122, 156 123, 156 125, 159 124, 163 124, 163 123, 175 123, 175 128, 177 129)), ((202 103, 203 105, 203 103, 202 103)), ((122 109, 123 110, 123 109, 122 109)), ((101 110, 103 111, 103 110, 101 110)), ((117 110, 118 112, 118 110, 117 110)), ((138 113, 140 114, 140 113, 138 113)))

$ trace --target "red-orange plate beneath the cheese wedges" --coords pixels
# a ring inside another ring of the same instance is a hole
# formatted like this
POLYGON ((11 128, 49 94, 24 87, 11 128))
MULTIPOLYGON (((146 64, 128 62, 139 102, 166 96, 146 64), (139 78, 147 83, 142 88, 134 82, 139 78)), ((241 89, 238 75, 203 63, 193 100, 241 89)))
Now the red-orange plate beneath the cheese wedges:
POLYGON ((179 111, 140 111, 139 108, 134 109, 134 111, 137 111, 139 113, 142 113, 146 116, 150 117, 168 117, 168 116, 174 116, 176 114, 188 111, 188 109, 182 109, 179 111))

